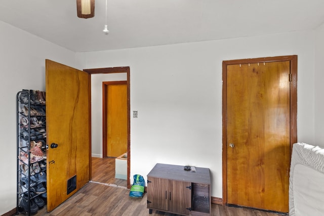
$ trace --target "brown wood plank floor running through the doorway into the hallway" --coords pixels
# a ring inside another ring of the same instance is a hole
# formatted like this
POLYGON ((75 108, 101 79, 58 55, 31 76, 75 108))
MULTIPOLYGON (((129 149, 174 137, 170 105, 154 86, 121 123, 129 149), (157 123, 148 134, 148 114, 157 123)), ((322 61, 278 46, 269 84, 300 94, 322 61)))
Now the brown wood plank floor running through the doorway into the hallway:
MULTIPOLYGON (((38 210, 36 215, 100 215, 100 216, 141 216, 141 215, 168 215, 176 214, 165 213, 153 210, 149 214, 147 205, 147 194, 143 198, 134 199, 129 197, 129 190, 126 189, 126 180, 115 180, 111 172, 111 164, 114 159, 93 158, 93 179, 85 187, 76 192, 68 200, 54 209, 46 212, 46 208, 38 210), (110 170, 110 171, 108 171, 110 170), (125 182, 124 182, 125 181, 125 182), (99 184, 96 182, 104 183, 99 184), (115 186, 107 186, 114 184, 115 186), (121 187, 117 187, 121 186, 121 187)), ((281 214, 259 211, 248 208, 236 208, 223 205, 212 204, 212 216, 278 216, 281 214)))

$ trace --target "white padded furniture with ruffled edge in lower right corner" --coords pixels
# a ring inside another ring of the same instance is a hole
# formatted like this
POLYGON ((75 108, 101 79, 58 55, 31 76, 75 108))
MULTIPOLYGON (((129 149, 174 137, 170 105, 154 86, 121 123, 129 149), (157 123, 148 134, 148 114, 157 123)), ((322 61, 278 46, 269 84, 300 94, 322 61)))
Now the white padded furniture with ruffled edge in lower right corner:
POLYGON ((324 215, 324 149, 293 145, 289 180, 289 215, 324 215))

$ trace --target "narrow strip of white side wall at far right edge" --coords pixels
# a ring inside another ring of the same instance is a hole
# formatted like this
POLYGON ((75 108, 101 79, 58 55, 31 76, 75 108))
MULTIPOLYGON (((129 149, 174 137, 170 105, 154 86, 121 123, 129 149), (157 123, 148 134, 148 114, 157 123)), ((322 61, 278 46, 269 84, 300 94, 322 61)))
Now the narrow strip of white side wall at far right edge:
POLYGON ((324 24, 316 29, 315 34, 315 141, 324 148, 324 24))

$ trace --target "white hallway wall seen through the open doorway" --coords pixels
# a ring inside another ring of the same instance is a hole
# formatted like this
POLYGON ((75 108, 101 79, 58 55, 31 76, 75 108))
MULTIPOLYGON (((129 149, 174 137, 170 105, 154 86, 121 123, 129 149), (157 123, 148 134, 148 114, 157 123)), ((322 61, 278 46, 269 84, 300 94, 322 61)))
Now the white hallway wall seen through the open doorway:
POLYGON ((91 153, 102 157, 102 82, 124 81, 127 73, 91 75, 91 153))

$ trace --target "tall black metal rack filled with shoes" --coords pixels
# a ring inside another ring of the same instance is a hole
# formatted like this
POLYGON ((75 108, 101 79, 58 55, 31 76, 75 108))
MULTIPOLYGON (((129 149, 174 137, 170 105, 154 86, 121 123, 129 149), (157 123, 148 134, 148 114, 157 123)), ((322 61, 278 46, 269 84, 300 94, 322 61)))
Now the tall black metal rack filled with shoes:
POLYGON ((17 214, 36 214, 47 203, 45 92, 17 93, 17 214))

